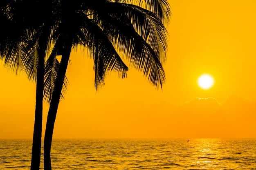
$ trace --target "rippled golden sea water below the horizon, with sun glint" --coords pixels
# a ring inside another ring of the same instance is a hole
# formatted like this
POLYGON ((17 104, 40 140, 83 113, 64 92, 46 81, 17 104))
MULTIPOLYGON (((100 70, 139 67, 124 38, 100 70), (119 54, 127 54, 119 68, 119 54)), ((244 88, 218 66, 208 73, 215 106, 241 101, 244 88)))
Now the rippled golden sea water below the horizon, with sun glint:
MULTIPOLYGON (((29 170, 31 144, 1 139, 0 170, 29 170)), ((256 170, 256 139, 55 139, 52 169, 256 170)))

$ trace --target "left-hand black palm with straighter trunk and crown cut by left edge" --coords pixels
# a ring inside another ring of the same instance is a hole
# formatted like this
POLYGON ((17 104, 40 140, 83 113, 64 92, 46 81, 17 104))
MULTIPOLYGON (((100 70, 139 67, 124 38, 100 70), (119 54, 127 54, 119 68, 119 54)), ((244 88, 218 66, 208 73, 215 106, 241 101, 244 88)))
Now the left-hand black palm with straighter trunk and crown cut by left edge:
POLYGON ((0 4, 0 21, 4 25, 0 33, 1 58, 10 69, 16 73, 25 71, 36 82, 31 170, 40 168, 44 64, 56 25, 53 4, 53 0, 5 0, 0 4))

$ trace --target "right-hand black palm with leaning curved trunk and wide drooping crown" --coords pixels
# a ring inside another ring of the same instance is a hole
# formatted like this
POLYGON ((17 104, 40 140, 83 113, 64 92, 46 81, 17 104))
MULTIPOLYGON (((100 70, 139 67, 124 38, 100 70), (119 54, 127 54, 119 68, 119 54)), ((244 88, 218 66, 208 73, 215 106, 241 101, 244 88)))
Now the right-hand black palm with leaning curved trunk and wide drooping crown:
MULTIPOLYGON (((50 151, 54 122, 72 49, 88 49, 94 59, 95 88, 103 86, 108 71, 126 76, 128 67, 119 54, 159 88, 165 81, 167 0, 69 0, 61 1, 59 29, 52 58, 61 55, 47 116, 44 167, 51 170, 50 151)), ((46 66, 47 68, 47 66, 46 66)), ((47 71, 46 71, 47 72, 47 71)), ((65 85, 64 85, 65 86, 65 85)))

